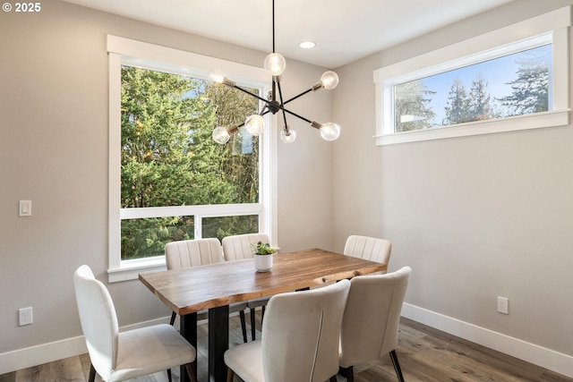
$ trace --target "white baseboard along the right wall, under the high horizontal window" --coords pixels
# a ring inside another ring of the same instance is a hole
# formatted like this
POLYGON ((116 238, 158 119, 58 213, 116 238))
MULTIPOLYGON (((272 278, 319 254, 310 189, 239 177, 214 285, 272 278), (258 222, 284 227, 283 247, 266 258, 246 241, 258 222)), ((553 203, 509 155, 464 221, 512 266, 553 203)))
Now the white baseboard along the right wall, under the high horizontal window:
POLYGON ((402 316, 573 378, 573 356, 405 303, 402 316))

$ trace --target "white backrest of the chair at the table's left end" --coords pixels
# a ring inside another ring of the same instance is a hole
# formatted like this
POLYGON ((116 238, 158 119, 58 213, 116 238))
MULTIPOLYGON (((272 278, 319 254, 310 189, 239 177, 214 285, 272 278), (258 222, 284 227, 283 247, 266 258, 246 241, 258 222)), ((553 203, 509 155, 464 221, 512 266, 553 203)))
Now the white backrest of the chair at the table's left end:
POLYGON ((73 274, 73 285, 91 364, 107 380, 115 369, 119 339, 114 301, 86 265, 73 274))

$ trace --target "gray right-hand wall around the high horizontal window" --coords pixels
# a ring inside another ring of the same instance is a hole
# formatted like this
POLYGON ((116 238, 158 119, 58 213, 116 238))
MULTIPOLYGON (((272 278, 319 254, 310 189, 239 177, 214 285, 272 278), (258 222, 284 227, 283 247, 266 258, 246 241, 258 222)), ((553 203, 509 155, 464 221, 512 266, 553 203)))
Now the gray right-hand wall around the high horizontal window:
POLYGON ((337 70, 335 248, 393 242, 406 302, 573 355, 571 126, 376 147, 372 71, 571 1, 514 1, 337 70), (509 316, 496 297, 509 298, 509 316))

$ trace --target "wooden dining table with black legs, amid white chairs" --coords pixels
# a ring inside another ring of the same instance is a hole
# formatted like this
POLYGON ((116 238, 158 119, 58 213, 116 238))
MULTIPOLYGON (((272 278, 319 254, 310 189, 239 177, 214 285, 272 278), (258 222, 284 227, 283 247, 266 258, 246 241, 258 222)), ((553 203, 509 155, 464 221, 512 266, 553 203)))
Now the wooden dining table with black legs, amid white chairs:
MULTIPOLYGON (((272 256, 273 265, 268 272, 257 271, 254 259, 239 259, 139 275, 141 283, 181 317, 180 333, 195 347, 197 312, 209 310, 209 382, 224 382, 227 378, 224 354, 229 346, 229 304, 387 269, 381 263, 321 249, 272 256)), ((182 366, 181 380, 189 382, 184 370, 182 366)))

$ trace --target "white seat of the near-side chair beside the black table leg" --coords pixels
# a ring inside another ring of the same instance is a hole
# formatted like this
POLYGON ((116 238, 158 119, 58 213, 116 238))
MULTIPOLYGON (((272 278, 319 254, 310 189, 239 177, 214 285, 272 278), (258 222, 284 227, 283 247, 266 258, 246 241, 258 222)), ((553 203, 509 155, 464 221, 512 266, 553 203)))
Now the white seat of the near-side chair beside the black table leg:
POLYGON ((244 382, 264 382, 262 341, 252 341, 235 346, 225 352, 225 363, 235 370, 244 382))

